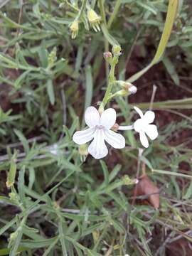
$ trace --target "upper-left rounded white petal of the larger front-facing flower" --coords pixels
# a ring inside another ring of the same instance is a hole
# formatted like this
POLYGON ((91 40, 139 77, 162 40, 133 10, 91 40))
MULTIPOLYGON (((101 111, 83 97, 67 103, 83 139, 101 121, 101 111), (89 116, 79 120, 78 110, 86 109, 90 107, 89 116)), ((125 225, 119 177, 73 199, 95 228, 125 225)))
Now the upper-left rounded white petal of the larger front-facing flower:
POLYGON ((95 127, 100 123, 100 113, 95 107, 87 107, 85 111, 85 123, 88 127, 95 127))

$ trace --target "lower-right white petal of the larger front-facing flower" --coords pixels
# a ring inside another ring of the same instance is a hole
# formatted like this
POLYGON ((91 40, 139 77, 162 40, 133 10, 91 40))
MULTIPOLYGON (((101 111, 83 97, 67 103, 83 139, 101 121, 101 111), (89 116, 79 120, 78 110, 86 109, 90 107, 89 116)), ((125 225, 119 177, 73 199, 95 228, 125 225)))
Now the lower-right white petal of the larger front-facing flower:
POLYGON ((105 140, 114 147, 114 149, 123 149, 125 146, 125 139, 122 134, 107 129, 105 130, 105 140))

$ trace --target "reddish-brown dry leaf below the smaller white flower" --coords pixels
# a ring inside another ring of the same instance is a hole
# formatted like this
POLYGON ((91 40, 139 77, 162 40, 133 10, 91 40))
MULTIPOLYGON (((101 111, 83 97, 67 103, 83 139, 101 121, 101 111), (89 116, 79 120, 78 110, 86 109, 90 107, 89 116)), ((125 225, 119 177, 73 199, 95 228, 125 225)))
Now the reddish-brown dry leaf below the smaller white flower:
POLYGON ((139 177, 139 183, 134 188, 134 197, 137 196, 144 196, 142 201, 146 200, 154 208, 159 208, 159 188, 146 174, 139 177))

